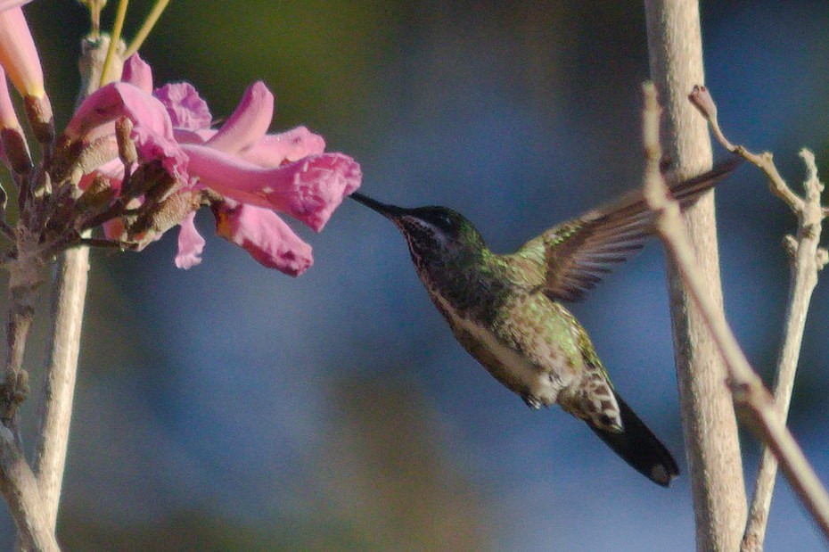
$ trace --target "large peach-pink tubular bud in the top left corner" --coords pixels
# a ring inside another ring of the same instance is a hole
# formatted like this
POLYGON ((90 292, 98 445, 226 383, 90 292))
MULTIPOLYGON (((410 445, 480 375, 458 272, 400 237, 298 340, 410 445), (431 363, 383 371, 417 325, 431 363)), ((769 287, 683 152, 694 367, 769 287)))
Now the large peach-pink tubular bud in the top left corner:
POLYGON ((45 96, 43 69, 20 5, 0 12, 0 65, 24 96, 45 96))

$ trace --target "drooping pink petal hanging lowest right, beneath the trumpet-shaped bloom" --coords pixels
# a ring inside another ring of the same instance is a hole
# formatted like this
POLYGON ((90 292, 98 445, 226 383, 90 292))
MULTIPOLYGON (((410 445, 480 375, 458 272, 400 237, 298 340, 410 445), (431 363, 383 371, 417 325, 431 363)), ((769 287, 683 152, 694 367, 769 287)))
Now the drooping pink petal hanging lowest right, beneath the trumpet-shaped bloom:
POLYGON ((300 276, 314 263, 311 246, 271 210, 227 202, 215 214, 217 234, 241 246, 264 267, 300 276))

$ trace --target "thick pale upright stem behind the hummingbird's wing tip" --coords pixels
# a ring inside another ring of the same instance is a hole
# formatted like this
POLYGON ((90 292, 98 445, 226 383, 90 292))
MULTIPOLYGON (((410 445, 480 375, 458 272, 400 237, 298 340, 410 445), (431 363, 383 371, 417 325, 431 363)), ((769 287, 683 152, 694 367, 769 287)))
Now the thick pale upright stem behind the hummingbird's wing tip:
MULTIPOLYGON (((700 174, 710 168, 713 155, 708 128, 687 100, 688 92, 704 80, 699 3, 645 0, 644 4, 651 78, 665 108, 667 157, 679 173, 700 174)), ((713 194, 686 210, 685 222, 710 299, 721 309, 713 194)), ((666 265, 696 546, 701 552, 733 552, 743 534, 747 507, 734 406, 722 384, 726 368, 677 268, 670 259, 666 265)))

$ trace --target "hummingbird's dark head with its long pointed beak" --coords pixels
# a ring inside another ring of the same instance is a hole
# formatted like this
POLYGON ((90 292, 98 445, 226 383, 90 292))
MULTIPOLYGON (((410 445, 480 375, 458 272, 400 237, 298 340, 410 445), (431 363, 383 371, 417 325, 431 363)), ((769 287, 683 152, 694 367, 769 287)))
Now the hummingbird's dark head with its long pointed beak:
POLYGON ((416 264, 445 262, 480 252, 483 238, 462 214, 447 207, 415 207, 404 209, 378 202, 363 194, 351 198, 389 218, 406 237, 416 264))

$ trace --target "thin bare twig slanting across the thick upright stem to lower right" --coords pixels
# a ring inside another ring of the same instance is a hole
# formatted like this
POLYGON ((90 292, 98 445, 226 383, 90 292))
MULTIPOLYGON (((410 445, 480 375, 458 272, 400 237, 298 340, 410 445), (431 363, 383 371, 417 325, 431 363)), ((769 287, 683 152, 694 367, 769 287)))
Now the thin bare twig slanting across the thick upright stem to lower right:
MULTIPOLYGON (((659 110, 653 87, 645 87, 645 112, 659 110)), ((645 115, 644 123, 653 126, 653 115, 645 115)), ((734 397, 735 406, 744 410, 749 416, 751 429, 759 439, 767 444, 780 462, 786 478, 800 497, 804 506, 819 525, 829 540, 829 493, 817 478, 817 474, 808 464, 803 451, 794 441, 792 433, 786 428, 778 415, 771 394, 749 365, 740 349, 726 317, 717 309, 705 292, 706 284, 696 268, 694 250, 688 243, 682 218, 679 216, 677 202, 671 200, 668 188, 659 171, 661 147, 653 142, 658 136, 658 123, 653 128, 644 129, 647 167, 644 177, 644 195, 650 208, 657 214, 657 230, 665 244, 666 250, 677 263, 685 288, 701 310, 718 350, 726 361, 728 385, 734 397), (659 154, 659 155, 657 155, 659 154)))

